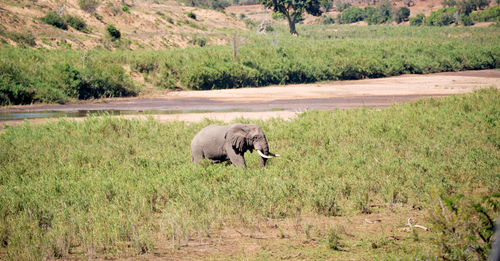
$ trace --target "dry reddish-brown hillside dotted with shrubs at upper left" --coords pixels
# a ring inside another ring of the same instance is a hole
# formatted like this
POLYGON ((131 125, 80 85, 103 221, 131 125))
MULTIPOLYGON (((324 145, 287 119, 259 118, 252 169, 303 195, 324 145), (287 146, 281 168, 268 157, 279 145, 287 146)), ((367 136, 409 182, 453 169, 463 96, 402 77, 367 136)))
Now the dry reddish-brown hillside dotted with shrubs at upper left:
POLYGON ((43 48, 92 49, 122 46, 130 49, 163 49, 189 45, 222 44, 228 30, 244 29, 243 22, 215 10, 187 7, 175 1, 105 0, 95 14, 80 8, 78 0, 21 0, 0 2, 0 41, 12 45, 31 42, 43 48), (63 6, 64 15, 80 17, 88 26, 84 33, 68 27, 62 30, 40 20, 63 6), (123 10, 128 6, 128 10, 123 10), (193 13, 196 19, 188 17, 193 13), (114 25, 121 41, 111 41, 106 26, 114 25), (23 41, 24 40, 24 41, 23 41), (30 41, 31 40, 31 41, 30 41), (34 43, 33 43, 34 40, 34 43))

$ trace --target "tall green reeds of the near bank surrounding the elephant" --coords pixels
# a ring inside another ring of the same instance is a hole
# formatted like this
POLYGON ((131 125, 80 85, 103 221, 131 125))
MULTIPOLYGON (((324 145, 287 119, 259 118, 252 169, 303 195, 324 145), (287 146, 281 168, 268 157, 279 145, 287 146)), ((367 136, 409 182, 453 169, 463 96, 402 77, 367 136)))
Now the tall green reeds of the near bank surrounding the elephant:
POLYGON ((500 191, 495 89, 257 123, 282 155, 265 169, 255 154, 248 169, 193 165, 189 143, 207 121, 92 117, 7 127, 0 259, 141 254, 231 224, 349 217, 385 203, 430 210, 440 195, 500 191))

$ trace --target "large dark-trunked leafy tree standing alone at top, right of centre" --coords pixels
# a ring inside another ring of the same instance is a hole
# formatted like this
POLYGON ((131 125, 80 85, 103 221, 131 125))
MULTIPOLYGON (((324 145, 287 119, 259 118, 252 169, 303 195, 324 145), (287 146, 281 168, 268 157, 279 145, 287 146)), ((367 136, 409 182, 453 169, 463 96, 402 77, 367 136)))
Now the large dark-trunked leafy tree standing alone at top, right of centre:
POLYGON ((290 33, 297 35, 295 23, 302 19, 302 13, 307 12, 314 16, 320 16, 320 2, 318 0, 260 0, 261 3, 271 8, 274 12, 282 13, 288 21, 290 33))

